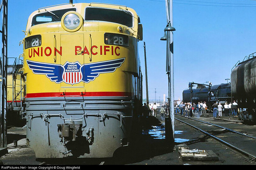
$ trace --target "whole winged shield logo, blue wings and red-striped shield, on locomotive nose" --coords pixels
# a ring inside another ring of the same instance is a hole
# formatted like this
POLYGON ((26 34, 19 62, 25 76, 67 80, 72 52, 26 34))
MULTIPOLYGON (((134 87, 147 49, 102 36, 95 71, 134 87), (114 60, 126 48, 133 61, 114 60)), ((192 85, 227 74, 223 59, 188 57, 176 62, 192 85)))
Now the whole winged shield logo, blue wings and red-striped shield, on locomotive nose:
POLYGON ((81 81, 89 83, 102 73, 113 73, 124 62, 125 58, 119 58, 83 65, 78 61, 61 65, 27 60, 27 65, 34 74, 44 74, 55 83, 65 82, 74 85, 81 81))

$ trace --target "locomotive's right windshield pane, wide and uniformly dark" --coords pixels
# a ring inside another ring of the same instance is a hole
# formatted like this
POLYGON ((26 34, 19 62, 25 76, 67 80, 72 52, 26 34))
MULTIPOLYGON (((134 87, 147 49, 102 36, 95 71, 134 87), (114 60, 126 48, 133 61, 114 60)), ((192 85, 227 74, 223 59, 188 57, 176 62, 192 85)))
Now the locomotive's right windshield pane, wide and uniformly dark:
POLYGON ((86 8, 85 20, 114 22, 127 27, 133 27, 132 14, 128 11, 106 9, 106 8, 86 8))

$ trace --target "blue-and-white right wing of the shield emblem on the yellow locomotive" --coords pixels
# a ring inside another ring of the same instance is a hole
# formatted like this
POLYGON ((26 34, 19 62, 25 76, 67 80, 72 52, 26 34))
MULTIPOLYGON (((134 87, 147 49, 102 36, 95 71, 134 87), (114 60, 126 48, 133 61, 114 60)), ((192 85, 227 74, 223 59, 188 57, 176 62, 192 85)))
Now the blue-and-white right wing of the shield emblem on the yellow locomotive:
POLYGON ((108 60, 96 63, 83 64, 81 72, 83 73, 83 80, 85 83, 95 80, 101 73, 112 73, 117 68, 121 67, 125 62, 125 58, 115 60, 108 60))

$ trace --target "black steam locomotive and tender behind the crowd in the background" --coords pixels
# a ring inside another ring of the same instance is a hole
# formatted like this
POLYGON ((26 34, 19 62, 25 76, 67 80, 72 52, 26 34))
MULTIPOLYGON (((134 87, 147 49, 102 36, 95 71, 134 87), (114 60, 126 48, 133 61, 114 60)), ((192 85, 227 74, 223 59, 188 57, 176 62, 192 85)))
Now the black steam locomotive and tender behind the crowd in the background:
POLYGON ((198 103, 200 101, 206 101, 209 111, 212 111, 212 105, 216 101, 224 104, 225 102, 231 102, 231 88, 230 83, 212 85, 209 82, 209 85, 198 84, 198 83, 189 83, 189 89, 184 90, 182 93, 183 102, 192 102, 198 103), (192 89, 194 85, 197 85, 196 89, 192 89), (208 86, 208 87, 206 87, 208 86))

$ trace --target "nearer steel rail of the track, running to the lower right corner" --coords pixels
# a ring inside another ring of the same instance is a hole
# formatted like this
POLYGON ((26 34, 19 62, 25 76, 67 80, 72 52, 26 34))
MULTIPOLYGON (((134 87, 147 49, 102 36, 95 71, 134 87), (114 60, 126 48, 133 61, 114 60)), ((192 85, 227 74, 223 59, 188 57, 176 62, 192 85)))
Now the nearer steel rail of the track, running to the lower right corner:
POLYGON ((239 149, 238 147, 236 147, 236 146, 234 146, 234 145, 232 145, 232 144, 230 144, 230 143, 228 143, 228 142, 226 142, 226 141, 224 141, 224 140, 222 140, 222 139, 220 139, 220 138, 218 138, 218 137, 216 137, 216 136, 214 136, 214 135, 212 135, 212 134, 209 134, 209 133, 207 133, 206 131, 204 131, 204 130, 198 128, 198 127, 195 127, 195 126, 192 125, 192 124, 189 124, 189 123, 184 122, 184 121, 182 121, 182 120, 180 120, 180 119, 177 119, 177 118, 174 118, 174 119, 176 119, 176 120, 178 120, 178 121, 180 121, 180 122, 182 122, 182 123, 185 123, 185 124, 187 124, 187 125, 193 127, 194 129, 197 129, 197 130, 201 131, 203 134, 206 134, 206 135, 208 135, 208 136, 211 136, 213 139, 215 139, 215 140, 217 140, 217 141, 219 141, 219 142, 221 142, 221 143, 223 143, 223 144, 225 144, 225 145, 227 145, 227 146, 233 148, 234 150, 236 150, 236 151, 238 151, 238 152, 240 152, 240 153, 242 153, 242 154, 244 154, 244 155, 246 155, 246 156, 248 156, 248 157, 250 157, 250 158, 256 160, 256 156, 254 156, 254 155, 248 153, 247 151, 241 150, 241 149, 239 149))

